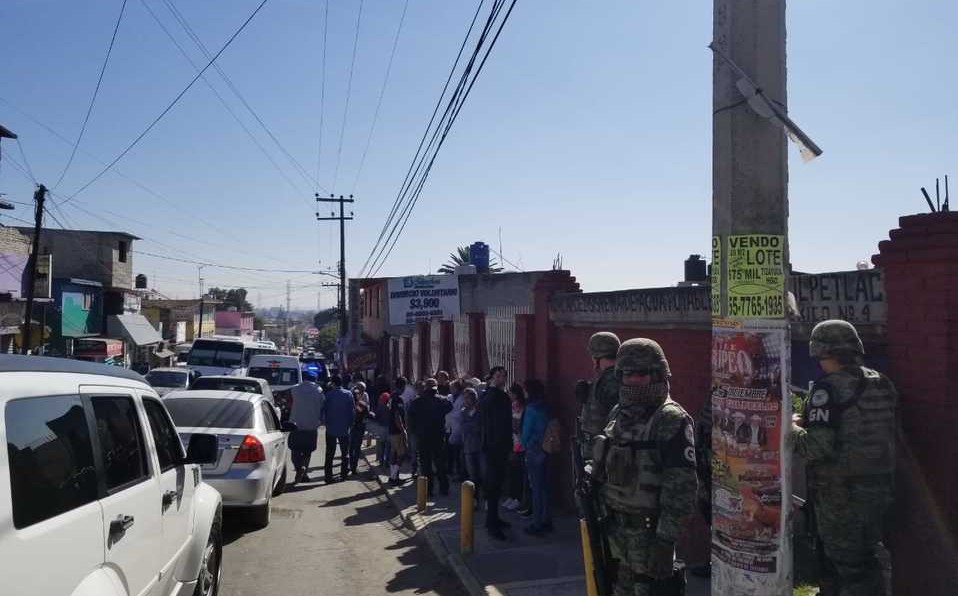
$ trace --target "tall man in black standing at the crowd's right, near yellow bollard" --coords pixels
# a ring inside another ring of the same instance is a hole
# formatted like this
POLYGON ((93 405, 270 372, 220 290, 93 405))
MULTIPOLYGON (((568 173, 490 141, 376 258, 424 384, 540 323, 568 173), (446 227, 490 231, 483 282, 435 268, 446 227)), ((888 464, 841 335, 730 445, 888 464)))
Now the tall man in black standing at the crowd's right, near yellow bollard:
POLYGON ((489 386, 479 400, 486 530, 496 540, 505 540, 502 529, 509 527, 499 519, 499 497, 512 450, 512 400, 504 390, 507 377, 505 367, 494 366, 489 371, 489 386))

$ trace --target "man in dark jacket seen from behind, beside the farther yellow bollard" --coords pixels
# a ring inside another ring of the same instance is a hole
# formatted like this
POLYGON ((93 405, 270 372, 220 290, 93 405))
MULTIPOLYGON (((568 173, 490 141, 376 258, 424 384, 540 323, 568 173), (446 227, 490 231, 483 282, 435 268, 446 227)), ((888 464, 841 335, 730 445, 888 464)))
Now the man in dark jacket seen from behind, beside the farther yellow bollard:
POLYGON ((429 478, 429 496, 433 494, 433 476, 439 480, 440 494, 449 494, 444 440, 446 414, 452 411, 452 403, 436 390, 436 380, 426 379, 426 389, 409 405, 409 419, 419 446, 419 471, 429 478))

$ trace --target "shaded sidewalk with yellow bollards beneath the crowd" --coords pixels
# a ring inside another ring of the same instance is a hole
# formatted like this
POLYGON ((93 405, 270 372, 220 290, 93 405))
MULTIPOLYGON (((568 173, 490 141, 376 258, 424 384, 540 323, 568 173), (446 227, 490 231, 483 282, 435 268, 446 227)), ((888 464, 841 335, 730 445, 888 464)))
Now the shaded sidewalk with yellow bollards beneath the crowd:
MULTIPOLYGON (((367 450, 370 460, 372 450, 367 450)), ((416 511, 416 486, 407 480, 390 486, 386 469, 370 466, 386 494, 407 520, 421 532, 440 560, 459 576, 471 596, 584 596, 585 575, 579 521, 574 517, 553 519, 555 531, 543 538, 529 536, 523 528, 529 520, 500 508, 500 515, 512 528, 508 540, 491 540, 485 532, 485 510, 474 514, 473 553, 459 552, 459 484, 451 483, 449 496, 436 494, 426 511, 416 511)), ((408 478, 404 473, 402 478, 408 478)), ((438 487, 437 487, 438 488, 438 487)), ((438 491, 437 491, 438 493, 438 491)), ((705 580, 689 575, 688 596, 706 596, 705 580)))

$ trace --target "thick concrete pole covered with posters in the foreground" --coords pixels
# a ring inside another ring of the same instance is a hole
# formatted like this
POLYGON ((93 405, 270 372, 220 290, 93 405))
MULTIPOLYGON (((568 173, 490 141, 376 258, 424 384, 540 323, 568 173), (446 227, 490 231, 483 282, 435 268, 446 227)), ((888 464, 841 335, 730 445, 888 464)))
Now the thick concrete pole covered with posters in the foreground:
POLYGON ((786 596, 792 591, 788 154, 781 122, 755 111, 741 82, 746 75, 787 111, 785 0, 714 0, 713 10, 709 407, 749 420, 758 415, 768 437, 766 445, 742 448, 723 435, 723 416, 713 416, 713 433, 725 440, 713 442, 721 465, 712 469, 721 472, 713 472, 712 494, 731 498, 712 500, 712 588, 716 596, 786 596), (747 374, 727 364, 743 358, 753 368, 747 374))

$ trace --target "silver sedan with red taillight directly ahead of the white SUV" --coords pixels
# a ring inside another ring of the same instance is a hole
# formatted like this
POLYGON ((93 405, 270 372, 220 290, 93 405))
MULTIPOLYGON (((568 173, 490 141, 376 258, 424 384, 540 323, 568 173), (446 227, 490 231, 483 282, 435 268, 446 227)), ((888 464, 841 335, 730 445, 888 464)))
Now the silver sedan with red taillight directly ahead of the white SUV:
POLYGON ((173 391, 163 402, 184 441, 214 434, 216 460, 203 466, 203 479, 223 495, 223 506, 248 510, 258 527, 269 525, 270 501, 286 487, 286 433, 276 410, 256 393, 173 391))

